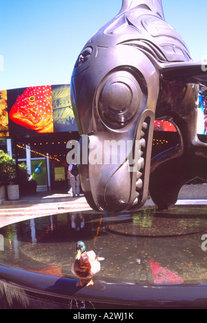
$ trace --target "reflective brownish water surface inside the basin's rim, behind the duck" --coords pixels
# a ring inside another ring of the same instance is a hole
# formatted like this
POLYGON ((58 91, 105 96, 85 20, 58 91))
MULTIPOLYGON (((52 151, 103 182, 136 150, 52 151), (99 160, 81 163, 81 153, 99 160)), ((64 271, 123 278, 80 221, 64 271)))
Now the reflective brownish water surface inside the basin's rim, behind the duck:
POLYGON ((76 244, 105 260, 94 282, 207 283, 207 208, 143 208, 119 215, 85 211, 30 219, 0 229, 1 264, 25 271, 75 277, 76 244), (2 248, 1 248, 2 249, 2 248))

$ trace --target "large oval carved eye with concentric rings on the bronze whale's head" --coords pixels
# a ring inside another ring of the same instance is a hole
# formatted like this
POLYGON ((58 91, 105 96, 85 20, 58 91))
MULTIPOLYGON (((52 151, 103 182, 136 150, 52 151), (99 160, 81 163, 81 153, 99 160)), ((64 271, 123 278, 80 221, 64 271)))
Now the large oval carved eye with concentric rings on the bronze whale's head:
POLYGON ((146 94, 130 72, 112 72, 100 84, 97 109, 106 126, 124 128, 146 104, 146 94))

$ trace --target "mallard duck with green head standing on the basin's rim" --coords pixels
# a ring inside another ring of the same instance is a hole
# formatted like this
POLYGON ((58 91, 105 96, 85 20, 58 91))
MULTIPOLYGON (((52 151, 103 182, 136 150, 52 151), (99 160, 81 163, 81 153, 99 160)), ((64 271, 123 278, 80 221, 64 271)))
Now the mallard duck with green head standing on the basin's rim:
POLYGON ((83 241, 77 242, 77 256, 72 264, 72 273, 80 278, 76 286, 83 286, 82 278, 89 278, 90 281, 86 286, 93 285, 92 276, 99 273, 101 270, 100 260, 104 260, 102 257, 97 257, 94 251, 86 252, 86 245, 83 241))

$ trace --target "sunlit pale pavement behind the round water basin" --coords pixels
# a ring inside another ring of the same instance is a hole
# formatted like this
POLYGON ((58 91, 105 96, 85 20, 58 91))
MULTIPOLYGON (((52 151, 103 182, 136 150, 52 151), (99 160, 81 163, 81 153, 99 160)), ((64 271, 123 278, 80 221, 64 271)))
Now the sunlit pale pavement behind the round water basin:
MULTIPOLYGON (((145 204, 154 205, 151 199, 145 204)), ((207 199, 179 199, 177 205, 206 205, 207 208, 207 199)), ((3 201, 0 205, 0 228, 34 217, 88 210, 92 209, 84 195, 72 197, 68 193, 57 191, 37 192, 16 201, 3 201)))

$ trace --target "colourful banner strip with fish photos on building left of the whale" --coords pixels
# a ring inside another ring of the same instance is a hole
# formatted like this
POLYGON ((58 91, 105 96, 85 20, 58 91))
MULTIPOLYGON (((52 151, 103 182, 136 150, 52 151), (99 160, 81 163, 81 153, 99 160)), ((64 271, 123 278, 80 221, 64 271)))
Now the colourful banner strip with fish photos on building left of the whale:
POLYGON ((0 136, 77 131, 70 85, 0 91, 0 136))

